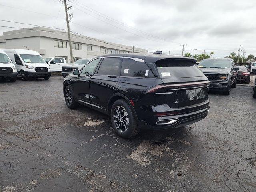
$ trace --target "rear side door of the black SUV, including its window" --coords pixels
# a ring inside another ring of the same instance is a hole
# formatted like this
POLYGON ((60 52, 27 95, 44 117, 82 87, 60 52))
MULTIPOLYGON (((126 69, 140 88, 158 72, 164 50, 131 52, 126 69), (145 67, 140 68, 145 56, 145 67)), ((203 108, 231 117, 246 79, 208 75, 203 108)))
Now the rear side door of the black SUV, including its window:
POLYGON ((90 79, 90 102, 92 108, 108 112, 108 99, 116 92, 121 71, 122 57, 105 57, 97 73, 90 79))

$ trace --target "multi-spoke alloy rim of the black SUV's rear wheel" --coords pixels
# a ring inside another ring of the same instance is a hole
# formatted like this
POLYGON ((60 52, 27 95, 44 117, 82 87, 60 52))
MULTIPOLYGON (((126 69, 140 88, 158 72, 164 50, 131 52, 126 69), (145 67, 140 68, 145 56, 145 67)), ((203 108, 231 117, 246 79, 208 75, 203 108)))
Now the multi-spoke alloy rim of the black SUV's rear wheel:
POLYGON ((114 124, 118 131, 125 132, 129 126, 129 117, 126 109, 123 106, 116 106, 114 109, 114 124))

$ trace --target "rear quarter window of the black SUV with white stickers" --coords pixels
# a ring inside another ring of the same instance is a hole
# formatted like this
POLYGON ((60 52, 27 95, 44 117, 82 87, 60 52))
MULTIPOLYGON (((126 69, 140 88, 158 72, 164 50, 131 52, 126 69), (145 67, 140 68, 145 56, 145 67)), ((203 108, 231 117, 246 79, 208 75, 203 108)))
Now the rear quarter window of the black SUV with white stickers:
POLYGON ((154 78, 154 75, 145 62, 138 62, 130 58, 123 59, 121 75, 154 78))

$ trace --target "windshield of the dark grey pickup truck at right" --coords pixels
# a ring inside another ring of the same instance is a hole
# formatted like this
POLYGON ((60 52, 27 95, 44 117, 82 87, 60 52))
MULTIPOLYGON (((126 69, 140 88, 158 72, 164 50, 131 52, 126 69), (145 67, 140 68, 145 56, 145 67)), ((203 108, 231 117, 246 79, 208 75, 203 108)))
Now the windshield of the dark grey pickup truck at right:
POLYGON ((229 60, 202 60, 198 67, 200 68, 230 68, 229 60))

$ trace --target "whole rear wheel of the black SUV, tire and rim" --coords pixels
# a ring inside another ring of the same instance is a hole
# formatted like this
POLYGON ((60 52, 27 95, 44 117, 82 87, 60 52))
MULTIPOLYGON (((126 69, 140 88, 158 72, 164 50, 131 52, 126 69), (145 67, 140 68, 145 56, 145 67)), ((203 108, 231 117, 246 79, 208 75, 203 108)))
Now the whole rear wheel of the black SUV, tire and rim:
POLYGON ((119 99, 114 102, 111 107, 110 118, 116 134, 122 138, 133 137, 140 131, 132 107, 126 100, 119 99), (118 114, 120 114, 120 116, 118 116, 118 114))

